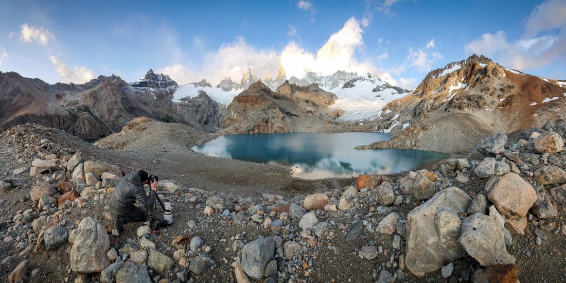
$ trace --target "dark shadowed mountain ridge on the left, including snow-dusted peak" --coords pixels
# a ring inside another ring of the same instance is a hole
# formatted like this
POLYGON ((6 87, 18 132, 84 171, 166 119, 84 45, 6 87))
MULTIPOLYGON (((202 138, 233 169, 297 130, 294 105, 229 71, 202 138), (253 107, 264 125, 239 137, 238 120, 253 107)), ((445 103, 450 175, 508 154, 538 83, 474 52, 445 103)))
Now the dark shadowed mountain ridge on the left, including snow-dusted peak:
MULTIPOLYGON (((201 82, 205 83, 205 82, 201 82)), ((208 85, 209 86, 209 85, 208 85)), ((47 84, 0 72, 0 127, 37 123, 85 140, 119 132, 136 117, 180 122, 203 131, 220 129, 224 109, 208 96, 172 102, 177 83, 152 70, 127 84, 117 76, 98 76, 85 84, 47 84)))

